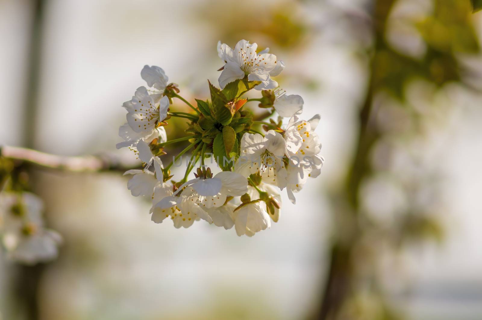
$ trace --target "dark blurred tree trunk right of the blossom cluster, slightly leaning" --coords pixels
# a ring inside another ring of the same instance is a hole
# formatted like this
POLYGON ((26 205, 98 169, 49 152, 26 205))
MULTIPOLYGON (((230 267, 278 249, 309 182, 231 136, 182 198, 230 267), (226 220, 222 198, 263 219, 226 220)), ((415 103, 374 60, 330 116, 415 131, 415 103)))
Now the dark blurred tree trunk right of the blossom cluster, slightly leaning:
POLYGON ((365 101, 360 110, 359 134, 355 157, 350 165, 344 189, 339 192, 334 203, 335 214, 343 218, 334 219, 334 239, 331 243, 330 265, 323 289, 323 298, 317 319, 337 319, 338 312, 353 293, 354 268, 353 251, 361 239, 362 229, 358 226, 359 187, 362 179, 371 172, 368 156, 370 148, 377 139, 373 123, 373 100, 377 92, 374 83, 376 53, 385 46, 384 31, 388 13, 395 0, 374 0, 372 3, 373 48, 370 60, 368 85, 365 101), (347 235, 347 230, 349 234, 347 235))

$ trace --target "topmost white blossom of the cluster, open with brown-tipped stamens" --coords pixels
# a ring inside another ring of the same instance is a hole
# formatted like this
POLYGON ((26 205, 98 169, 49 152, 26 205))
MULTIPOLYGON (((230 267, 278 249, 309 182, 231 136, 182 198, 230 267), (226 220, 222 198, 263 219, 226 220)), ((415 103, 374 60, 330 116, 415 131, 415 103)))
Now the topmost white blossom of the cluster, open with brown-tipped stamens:
POLYGON ((276 55, 271 53, 257 54, 257 47, 256 43, 251 44, 249 41, 240 40, 233 50, 226 43, 218 42, 218 55, 226 63, 223 67, 223 72, 219 76, 221 89, 229 82, 243 79, 245 76, 248 76, 250 81, 262 82, 254 87, 257 90, 278 87, 278 82, 271 79, 270 73, 276 74, 278 71, 281 72, 284 65, 280 70, 280 67, 277 68, 278 61, 276 60, 276 55))

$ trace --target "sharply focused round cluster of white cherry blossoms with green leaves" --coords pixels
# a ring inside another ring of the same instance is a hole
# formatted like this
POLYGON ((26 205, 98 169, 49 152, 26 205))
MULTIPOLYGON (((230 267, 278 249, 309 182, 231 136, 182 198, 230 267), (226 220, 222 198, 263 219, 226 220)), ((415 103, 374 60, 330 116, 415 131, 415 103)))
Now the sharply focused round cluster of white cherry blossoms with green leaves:
POLYGON ((285 65, 268 48, 257 52, 256 43, 241 40, 234 48, 219 42, 217 51, 224 63, 220 89, 208 81, 210 97, 196 99, 197 107, 168 83, 162 68, 145 66, 141 77, 148 88, 137 88, 122 105, 127 121, 117 147, 128 147, 141 160, 142 169, 125 173, 132 175, 127 187, 133 196, 152 200, 155 223, 169 219, 187 228, 202 219, 253 236, 279 220, 283 189, 295 203, 295 193, 320 174, 324 160, 315 133, 320 116, 301 117, 303 99, 287 95, 273 79, 285 65), (252 89, 261 97, 245 98, 252 89), (171 110, 174 98, 192 112, 171 110), (252 101, 264 113, 248 109, 252 101), (174 117, 187 120, 187 135, 168 140, 165 126, 174 117), (171 150, 186 144, 166 154, 167 145, 171 150), (161 158, 171 161, 164 166, 161 158), (184 176, 171 173, 177 163, 186 163, 184 176))

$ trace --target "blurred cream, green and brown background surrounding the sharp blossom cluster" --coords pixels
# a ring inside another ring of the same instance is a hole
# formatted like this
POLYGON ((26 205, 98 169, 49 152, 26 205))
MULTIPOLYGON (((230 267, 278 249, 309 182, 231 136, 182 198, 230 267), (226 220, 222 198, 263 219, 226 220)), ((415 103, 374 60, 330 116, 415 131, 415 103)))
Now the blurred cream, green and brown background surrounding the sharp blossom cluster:
POLYGON ((0 0, 2 145, 133 161, 141 68, 205 97, 217 41, 246 39, 321 114, 326 160, 253 238, 156 225, 118 172, 31 169, 65 241, 0 258, 0 319, 482 319, 481 35, 469 0, 0 0))

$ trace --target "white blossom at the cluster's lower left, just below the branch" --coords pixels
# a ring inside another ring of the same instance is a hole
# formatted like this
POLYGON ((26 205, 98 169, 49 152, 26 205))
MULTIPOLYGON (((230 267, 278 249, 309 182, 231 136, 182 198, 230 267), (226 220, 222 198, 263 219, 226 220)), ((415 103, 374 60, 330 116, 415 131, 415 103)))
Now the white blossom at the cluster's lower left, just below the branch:
POLYGON ((126 174, 133 174, 132 178, 127 181, 127 189, 131 190, 134 197, 145 196, 153 197, 154 190, 162 184, 162 161, 159 157, 154 157, 155 173, 149 170, 131 169, 126 174))

